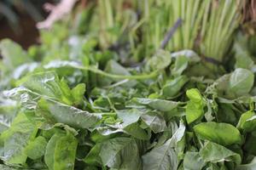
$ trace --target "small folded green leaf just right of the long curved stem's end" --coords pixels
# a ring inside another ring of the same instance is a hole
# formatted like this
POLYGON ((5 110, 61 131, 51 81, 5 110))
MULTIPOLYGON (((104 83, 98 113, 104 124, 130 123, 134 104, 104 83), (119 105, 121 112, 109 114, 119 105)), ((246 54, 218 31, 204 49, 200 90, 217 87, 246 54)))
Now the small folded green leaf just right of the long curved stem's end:
POLYGON ((181 88, 183 88, 184 84, 189 81, 188 77, 180 76, 171 81, 166 82, 163 87, 163 95, 166 97, 174 97, 178 93, 180 93, 181 88))

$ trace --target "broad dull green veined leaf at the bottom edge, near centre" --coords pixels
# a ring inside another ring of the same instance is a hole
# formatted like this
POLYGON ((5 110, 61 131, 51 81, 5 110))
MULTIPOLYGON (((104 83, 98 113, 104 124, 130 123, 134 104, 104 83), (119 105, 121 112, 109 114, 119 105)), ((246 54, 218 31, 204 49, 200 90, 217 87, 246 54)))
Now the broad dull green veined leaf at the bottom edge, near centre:
POLYGON ((99 154, 104 166, 117 169, 141 169, 141 161, 137 143, 130 138, 114 138, 102 144, 99 154))

